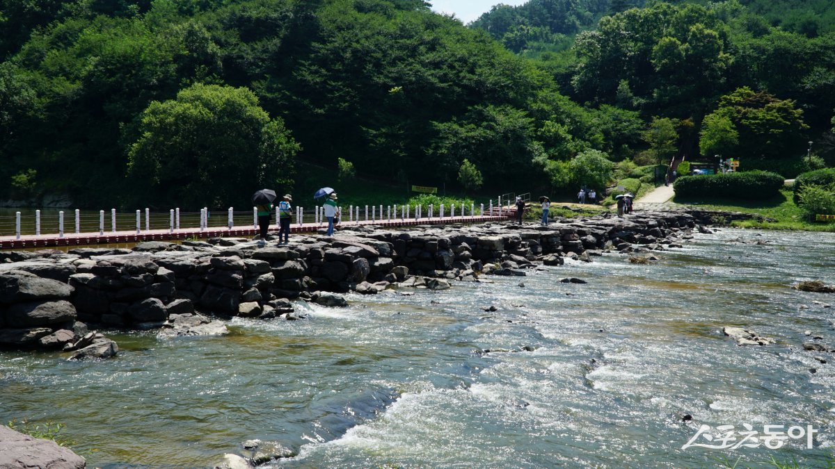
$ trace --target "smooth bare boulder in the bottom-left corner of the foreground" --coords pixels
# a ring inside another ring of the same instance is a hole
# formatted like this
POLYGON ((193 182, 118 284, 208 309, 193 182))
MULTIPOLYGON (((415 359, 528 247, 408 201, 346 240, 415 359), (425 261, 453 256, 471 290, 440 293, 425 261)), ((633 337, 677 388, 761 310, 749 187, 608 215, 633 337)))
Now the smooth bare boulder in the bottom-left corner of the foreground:
POLYGON ((0 426, 0 467, 24 469, 48 467, 49 469, 83 469, 84 458, 52 440, 34 438, 0 426))

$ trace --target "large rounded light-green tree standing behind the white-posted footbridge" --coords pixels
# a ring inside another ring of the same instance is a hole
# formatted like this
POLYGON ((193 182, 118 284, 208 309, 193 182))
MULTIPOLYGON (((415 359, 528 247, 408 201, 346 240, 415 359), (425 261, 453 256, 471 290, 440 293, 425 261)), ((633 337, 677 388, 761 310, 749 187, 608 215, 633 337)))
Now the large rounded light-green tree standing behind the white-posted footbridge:
POLYGON ((246 88, 185 88, 176 99, 151 103, 134 134, 129 176, 144 200, 190 208, 240 206, 255 189, 294 179, 299 145, 246 88))

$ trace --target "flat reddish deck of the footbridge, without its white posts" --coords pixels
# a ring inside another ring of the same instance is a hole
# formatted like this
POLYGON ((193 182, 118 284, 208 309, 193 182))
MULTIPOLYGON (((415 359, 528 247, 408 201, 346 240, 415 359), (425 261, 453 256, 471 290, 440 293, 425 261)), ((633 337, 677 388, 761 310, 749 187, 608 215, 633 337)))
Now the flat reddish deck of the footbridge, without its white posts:
MULTIPOLYGON (((504 209, 502 216, 498 216, 497 212, 490 215, 487 212, 483 216, 445 216, 421 219, 391 219, 391 220, 362 220, 362 221, 347 221, 338 226, 382 226, 385 228, 397 228, 402 226, 415 226, 418 224, 454 224, 454 223, 482 223, 485 221, 501 221, 513 218, 515 214, 514 209, 504 209)), ((325 229, 327 223, 304 223, 292 224, 292 233, 316 233, 319 229, 325 229)), ((278 225, 271 224, 271 231, 277 231, 278 225)), ((338 227, 337 227, 338 230, 338 227)), ((209 227, 205 229, 200 228, 181 228, 181 229, 136 229, 129 231, 104 231, 104 233, 65 233, 62 236, 56 234, 50 235, 21 235, 18 239, 16 236, 0 236, 0 250, 21 249, 21 248, 48 248, 54 246, 82 246, 82 245, 105 245, 118 243, 139 243, 142 241, 168 241, 168 240, 186 240, 195 238, 217 238, 217 237, 250 237, 258 234, 258 229, 252 225, 245 227, 233 227, 231 229, 223 227, 209 227)))

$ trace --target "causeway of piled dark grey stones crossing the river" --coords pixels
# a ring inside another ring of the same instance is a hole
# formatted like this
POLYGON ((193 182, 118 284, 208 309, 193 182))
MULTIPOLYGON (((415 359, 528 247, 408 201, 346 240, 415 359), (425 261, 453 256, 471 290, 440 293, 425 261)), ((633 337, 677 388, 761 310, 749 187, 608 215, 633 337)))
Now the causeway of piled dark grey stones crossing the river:
MULTIPOLYGON (((356 227, 295 236, 290 245, 234 238, 182 244, 151 241, 133 250, 82 248, 0 253, 0 345, 114 356, 119 347, 89 328, 164 335, 224 334, 215 317, 303 319, 291 300, 346 305, 340 292, 392 287, 442 290, 488 275, 524 276, 542 262, 591 260, 681 246, 711 214, 655 212, 628 218, 568 219, 547 227, 488 223, 356 227)), ((702 228, 703 229, 703 228, 702 228)))

